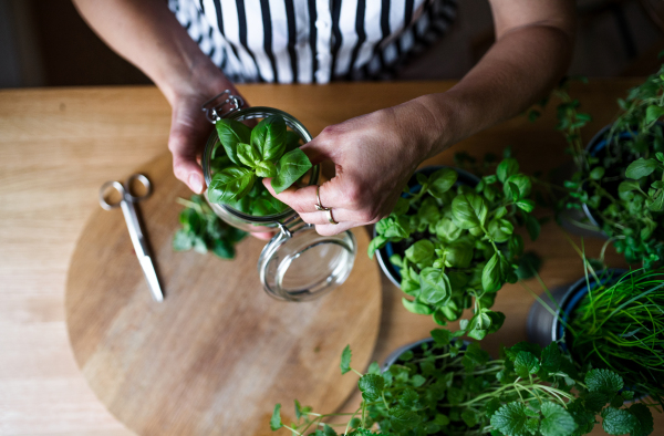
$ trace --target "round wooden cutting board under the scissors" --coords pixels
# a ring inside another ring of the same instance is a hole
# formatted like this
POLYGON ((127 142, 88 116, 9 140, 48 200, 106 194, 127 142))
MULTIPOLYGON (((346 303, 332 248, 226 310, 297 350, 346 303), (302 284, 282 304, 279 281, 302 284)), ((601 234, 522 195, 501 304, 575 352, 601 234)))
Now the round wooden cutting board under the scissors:
MULTIPOLYGON (((120 209, 93 214, 72 258, 66 322, 74 355, 92 390, 139 435, 267 435, 276 403, 333 412, 356 388, 341 375, 343 347, 353 367, 369 365, 381 320, 381 280, 355 229, 354 269, 319 300, 273 300, 256 263, 264 241, 246 238, 234 261, 175 252, 172 238, 188 189, 170 155, 143 168, 153 195, 138 204, 165 300, 154 302, 120 209)), ((287 435, 288 432, 280 430, 287 435)))

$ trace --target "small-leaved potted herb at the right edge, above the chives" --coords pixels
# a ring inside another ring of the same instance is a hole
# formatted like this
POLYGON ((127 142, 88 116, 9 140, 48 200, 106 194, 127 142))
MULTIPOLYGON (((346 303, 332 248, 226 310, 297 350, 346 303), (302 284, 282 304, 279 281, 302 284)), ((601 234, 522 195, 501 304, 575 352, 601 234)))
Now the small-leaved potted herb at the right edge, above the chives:
MULTIPOLYGON (((619 100, 623 113, 583 147, 590 115, 567 90, 557 91, 559 125, 577 170, 564 181, 561 208, 583 211, 580 227, 598 228, 629 263, 655 268, 664 259, 664 66, 619 100)), ((609 242, 608 242, 609 243, 609 242)))

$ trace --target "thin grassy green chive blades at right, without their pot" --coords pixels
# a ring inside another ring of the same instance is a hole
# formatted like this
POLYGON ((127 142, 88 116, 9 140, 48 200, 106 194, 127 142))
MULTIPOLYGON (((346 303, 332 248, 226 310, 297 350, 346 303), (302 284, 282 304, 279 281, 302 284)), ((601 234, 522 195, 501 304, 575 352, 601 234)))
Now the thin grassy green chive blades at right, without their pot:
POLYGON ((610 284, 595 283, 570 315, 571 354, 620 374, 631 390, 663 405, 664 270, 636 270, 610 284))

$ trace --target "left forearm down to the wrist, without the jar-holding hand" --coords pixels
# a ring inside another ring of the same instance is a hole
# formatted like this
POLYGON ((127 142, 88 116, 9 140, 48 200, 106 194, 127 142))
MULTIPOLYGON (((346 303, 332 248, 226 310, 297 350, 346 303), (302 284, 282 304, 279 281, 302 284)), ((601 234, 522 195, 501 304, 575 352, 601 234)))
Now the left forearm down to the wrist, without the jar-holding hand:
POLYGON ((173 105, 178 95, 222 90, 222 74, 189 38, 164 0, 74 0, 90 27, 141 69, 173 105))

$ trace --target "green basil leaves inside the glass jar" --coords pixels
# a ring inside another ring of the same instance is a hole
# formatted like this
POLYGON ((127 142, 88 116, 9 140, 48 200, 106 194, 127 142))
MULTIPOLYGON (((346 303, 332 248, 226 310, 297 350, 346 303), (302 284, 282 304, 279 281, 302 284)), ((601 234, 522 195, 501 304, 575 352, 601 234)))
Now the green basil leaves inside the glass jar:
POLYGON ((253 128, 221 118, 216 123, 220 146, 212 153, 208 199, 252 216, 281 214, 288 206, 260 181, 271 177, 277 194, 294 184, 311 167, 299 148, 300 136, 287 129, 282 116, 272 115, 253 128))

